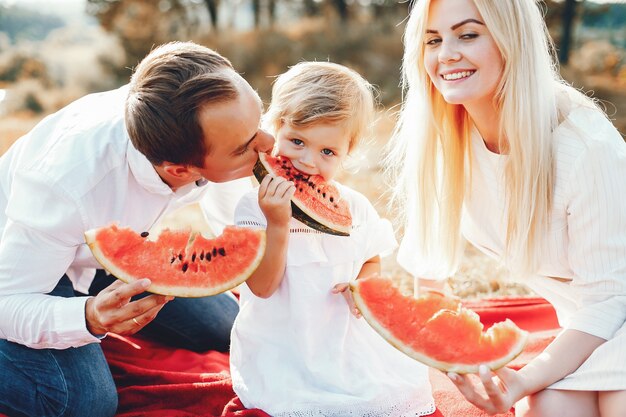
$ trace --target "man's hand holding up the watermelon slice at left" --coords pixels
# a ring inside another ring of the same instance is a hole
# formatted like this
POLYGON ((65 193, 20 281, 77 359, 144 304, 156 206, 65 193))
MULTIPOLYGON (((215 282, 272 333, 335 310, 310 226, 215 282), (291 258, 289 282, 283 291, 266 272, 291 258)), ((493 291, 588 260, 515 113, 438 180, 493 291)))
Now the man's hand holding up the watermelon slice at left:
POLYGON ((100 293, 87 300, 85 321, 87 330, 93 335, 108 332, 133 334, 150 323, 165 303, 174 297, 149 295, 136 301, 131 297, 143 293, 150 286, 147 278, 126 284, 115 281, 100 293))

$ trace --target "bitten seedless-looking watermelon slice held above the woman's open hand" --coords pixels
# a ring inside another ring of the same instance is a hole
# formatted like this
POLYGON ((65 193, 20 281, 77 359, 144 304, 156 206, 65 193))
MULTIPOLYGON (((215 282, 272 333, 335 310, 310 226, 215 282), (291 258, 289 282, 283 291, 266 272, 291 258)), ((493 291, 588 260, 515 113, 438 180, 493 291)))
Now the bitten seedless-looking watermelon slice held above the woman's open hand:
POLYGON ((498 369, 519 355, 528 333, 505 320, 483 331, 478 315, 456 298, 404 295, 391 280, 370 277, 350 284, 356 306, 385 340, 433 368, 476 373, 498 369))

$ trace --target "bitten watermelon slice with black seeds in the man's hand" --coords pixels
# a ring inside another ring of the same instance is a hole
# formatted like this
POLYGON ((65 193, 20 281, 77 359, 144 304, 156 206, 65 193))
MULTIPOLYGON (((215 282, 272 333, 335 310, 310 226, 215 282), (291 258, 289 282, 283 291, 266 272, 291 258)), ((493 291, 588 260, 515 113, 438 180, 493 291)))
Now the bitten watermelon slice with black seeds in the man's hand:
POLYGON ((163 230, 156 240, 117 225, 91 229, 85 240, 94 257, 124 282, 150 278, 147 291, 204 297, 244 282, 265 252, 265 231, 227 226, 215 239, 189 230, 163 230))

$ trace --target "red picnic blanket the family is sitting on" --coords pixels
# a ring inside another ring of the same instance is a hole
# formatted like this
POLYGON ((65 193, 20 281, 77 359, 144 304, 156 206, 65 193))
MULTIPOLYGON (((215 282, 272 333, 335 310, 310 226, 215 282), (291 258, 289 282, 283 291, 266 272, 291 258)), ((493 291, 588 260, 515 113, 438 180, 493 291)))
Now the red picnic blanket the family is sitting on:
MULTIPOLYGON (((510 318, 531 332, 524 353, 509 366, 528 363, 554 338, 552 307, 539 298, 499 298, 465 302, 486 327, 510 318)), ((246 410, 232 390, 228 355, 167 348, 140 337, 107 337, 102 347, 119 391, 118 417, 265 417, 246 410)), ((433 417, 485 417, 459 394, 441 372, 431 370, 437 412, 433 417)), ((511 417, 513 413, 505 414, 511 417)))

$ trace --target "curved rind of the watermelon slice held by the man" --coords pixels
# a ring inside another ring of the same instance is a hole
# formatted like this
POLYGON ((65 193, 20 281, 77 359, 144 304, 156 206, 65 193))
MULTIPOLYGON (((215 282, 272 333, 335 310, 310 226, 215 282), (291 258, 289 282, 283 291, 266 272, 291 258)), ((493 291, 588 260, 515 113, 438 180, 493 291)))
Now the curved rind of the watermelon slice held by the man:
MULTIPOLYGON (((96 235, 98 233, 98 230, 100 229, 101 228, 95 228, 95 229, 90 229, 86 231, 85 242, 91 249, 91 252, 94 258, 96 258, 98 263, 100 263, 100 265, 102 265, 102 267, 108 273, 110 273, 117 279, 124 281, 127 284, 133 283, 135 281, 139 281, 140 279, 143 279, 143 278, 150 278, 150 277, 135 277, 133 275, 130 275, 127 272, 123 271, 122 269, 118 268, 109 258, 107 258, 104 255, 104 253, 102 253, 102 251, 100 250, 97 240, 96 240, 96 235)), ((198 297, 208 297, 212 295, 221 294, 223 292, 226 292, 228 290, 231 290, 237 287, 240 284, 243 284, 250 277, 250 275, 254 273, 254 271, 257 269, 257 267, 261 263, 261 259, 263 259, 263 254, 265 253, 265 246, 266 246, 266 236, 265 236, 265 232, 264 231, 262 232, 263 233, 261 233, 260 235, 260 244, 259 244, 259 250, 257 251, 257 256, 249 264, 248 268, 246 268, 238 276, 233 277, 231 280, 228 280, 222 283, 221 285, 216 285, 212 287, 196 287, 196 288, 190 288, 190 287, 180 286, 180 285, 159 285, 159 284, 153 283, 146 289, 146 291, 153 293, 153 294, 160 294, 160 295, 172 295, 175 297, 198 298, 198 297)))

